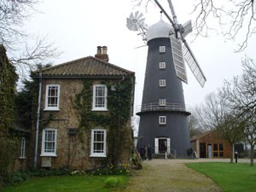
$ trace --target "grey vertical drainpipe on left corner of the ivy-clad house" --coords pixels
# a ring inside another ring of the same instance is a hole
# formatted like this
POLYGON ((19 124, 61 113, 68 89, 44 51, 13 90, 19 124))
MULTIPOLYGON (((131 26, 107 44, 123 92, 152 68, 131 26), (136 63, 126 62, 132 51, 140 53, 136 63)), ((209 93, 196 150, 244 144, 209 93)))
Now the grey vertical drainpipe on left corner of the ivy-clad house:
POLYGON ((42 93, 42 72, 40 68, 39 73, 39 90, 38 90, 38 113, 37 113, 37 126, 36 126, 36 142, 35 142, 35 156, 34 156, 34 169, 38 165, 38 131, 40 122, 40 108, 41 108, 41 93, 42 93))

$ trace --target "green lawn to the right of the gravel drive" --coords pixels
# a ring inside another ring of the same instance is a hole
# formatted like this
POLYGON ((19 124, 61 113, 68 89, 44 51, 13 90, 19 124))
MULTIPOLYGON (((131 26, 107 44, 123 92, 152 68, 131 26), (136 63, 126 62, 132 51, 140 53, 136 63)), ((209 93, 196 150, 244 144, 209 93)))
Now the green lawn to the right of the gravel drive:
POLYGON ((190 163, 186 166, 211 177, 224 192, 256 191, 256 166, 220 162, 190 163))

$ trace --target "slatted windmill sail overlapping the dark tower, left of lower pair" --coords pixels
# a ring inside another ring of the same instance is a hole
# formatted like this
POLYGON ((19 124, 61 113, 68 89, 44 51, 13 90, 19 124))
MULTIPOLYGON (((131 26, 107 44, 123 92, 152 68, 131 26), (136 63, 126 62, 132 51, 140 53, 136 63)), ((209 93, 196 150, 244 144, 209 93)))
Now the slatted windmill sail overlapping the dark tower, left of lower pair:
POLYGON ((184 83, 188 84, 186 68, 183 61, 183 50, 181 41, 177 38, 170 37, 172 47, 172 59, 176 71, 176 75, 184 83))

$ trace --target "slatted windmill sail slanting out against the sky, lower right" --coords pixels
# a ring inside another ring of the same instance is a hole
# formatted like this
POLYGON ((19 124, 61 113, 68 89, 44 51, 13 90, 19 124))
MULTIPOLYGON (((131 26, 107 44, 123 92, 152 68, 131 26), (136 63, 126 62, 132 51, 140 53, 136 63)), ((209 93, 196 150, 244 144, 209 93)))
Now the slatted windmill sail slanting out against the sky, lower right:
POLYGON ((195 79, 201 84, 203 87, 207 81, 206 76, 201 70, 198 62, 195 59, 195 55, 193 55, 191 49, 189 48, 189 44, 183 39, 183 55, 185 61, 188 63, 189 68, 191 69, 192 73, 195 76, 195 79))

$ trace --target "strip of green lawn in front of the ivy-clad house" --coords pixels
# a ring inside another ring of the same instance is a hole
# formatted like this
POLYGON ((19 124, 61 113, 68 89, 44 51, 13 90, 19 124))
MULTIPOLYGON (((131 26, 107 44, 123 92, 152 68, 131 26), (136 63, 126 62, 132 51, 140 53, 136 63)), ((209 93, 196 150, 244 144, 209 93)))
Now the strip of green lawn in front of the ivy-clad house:
MULTIPOLYGON (((109 192, 121 188, 106 188, 109 176, 53 176, 33 177, 15 186, 5 186, 3 192, 109 192)), ((128 182, 128 176, 116 176, 128 182)))

